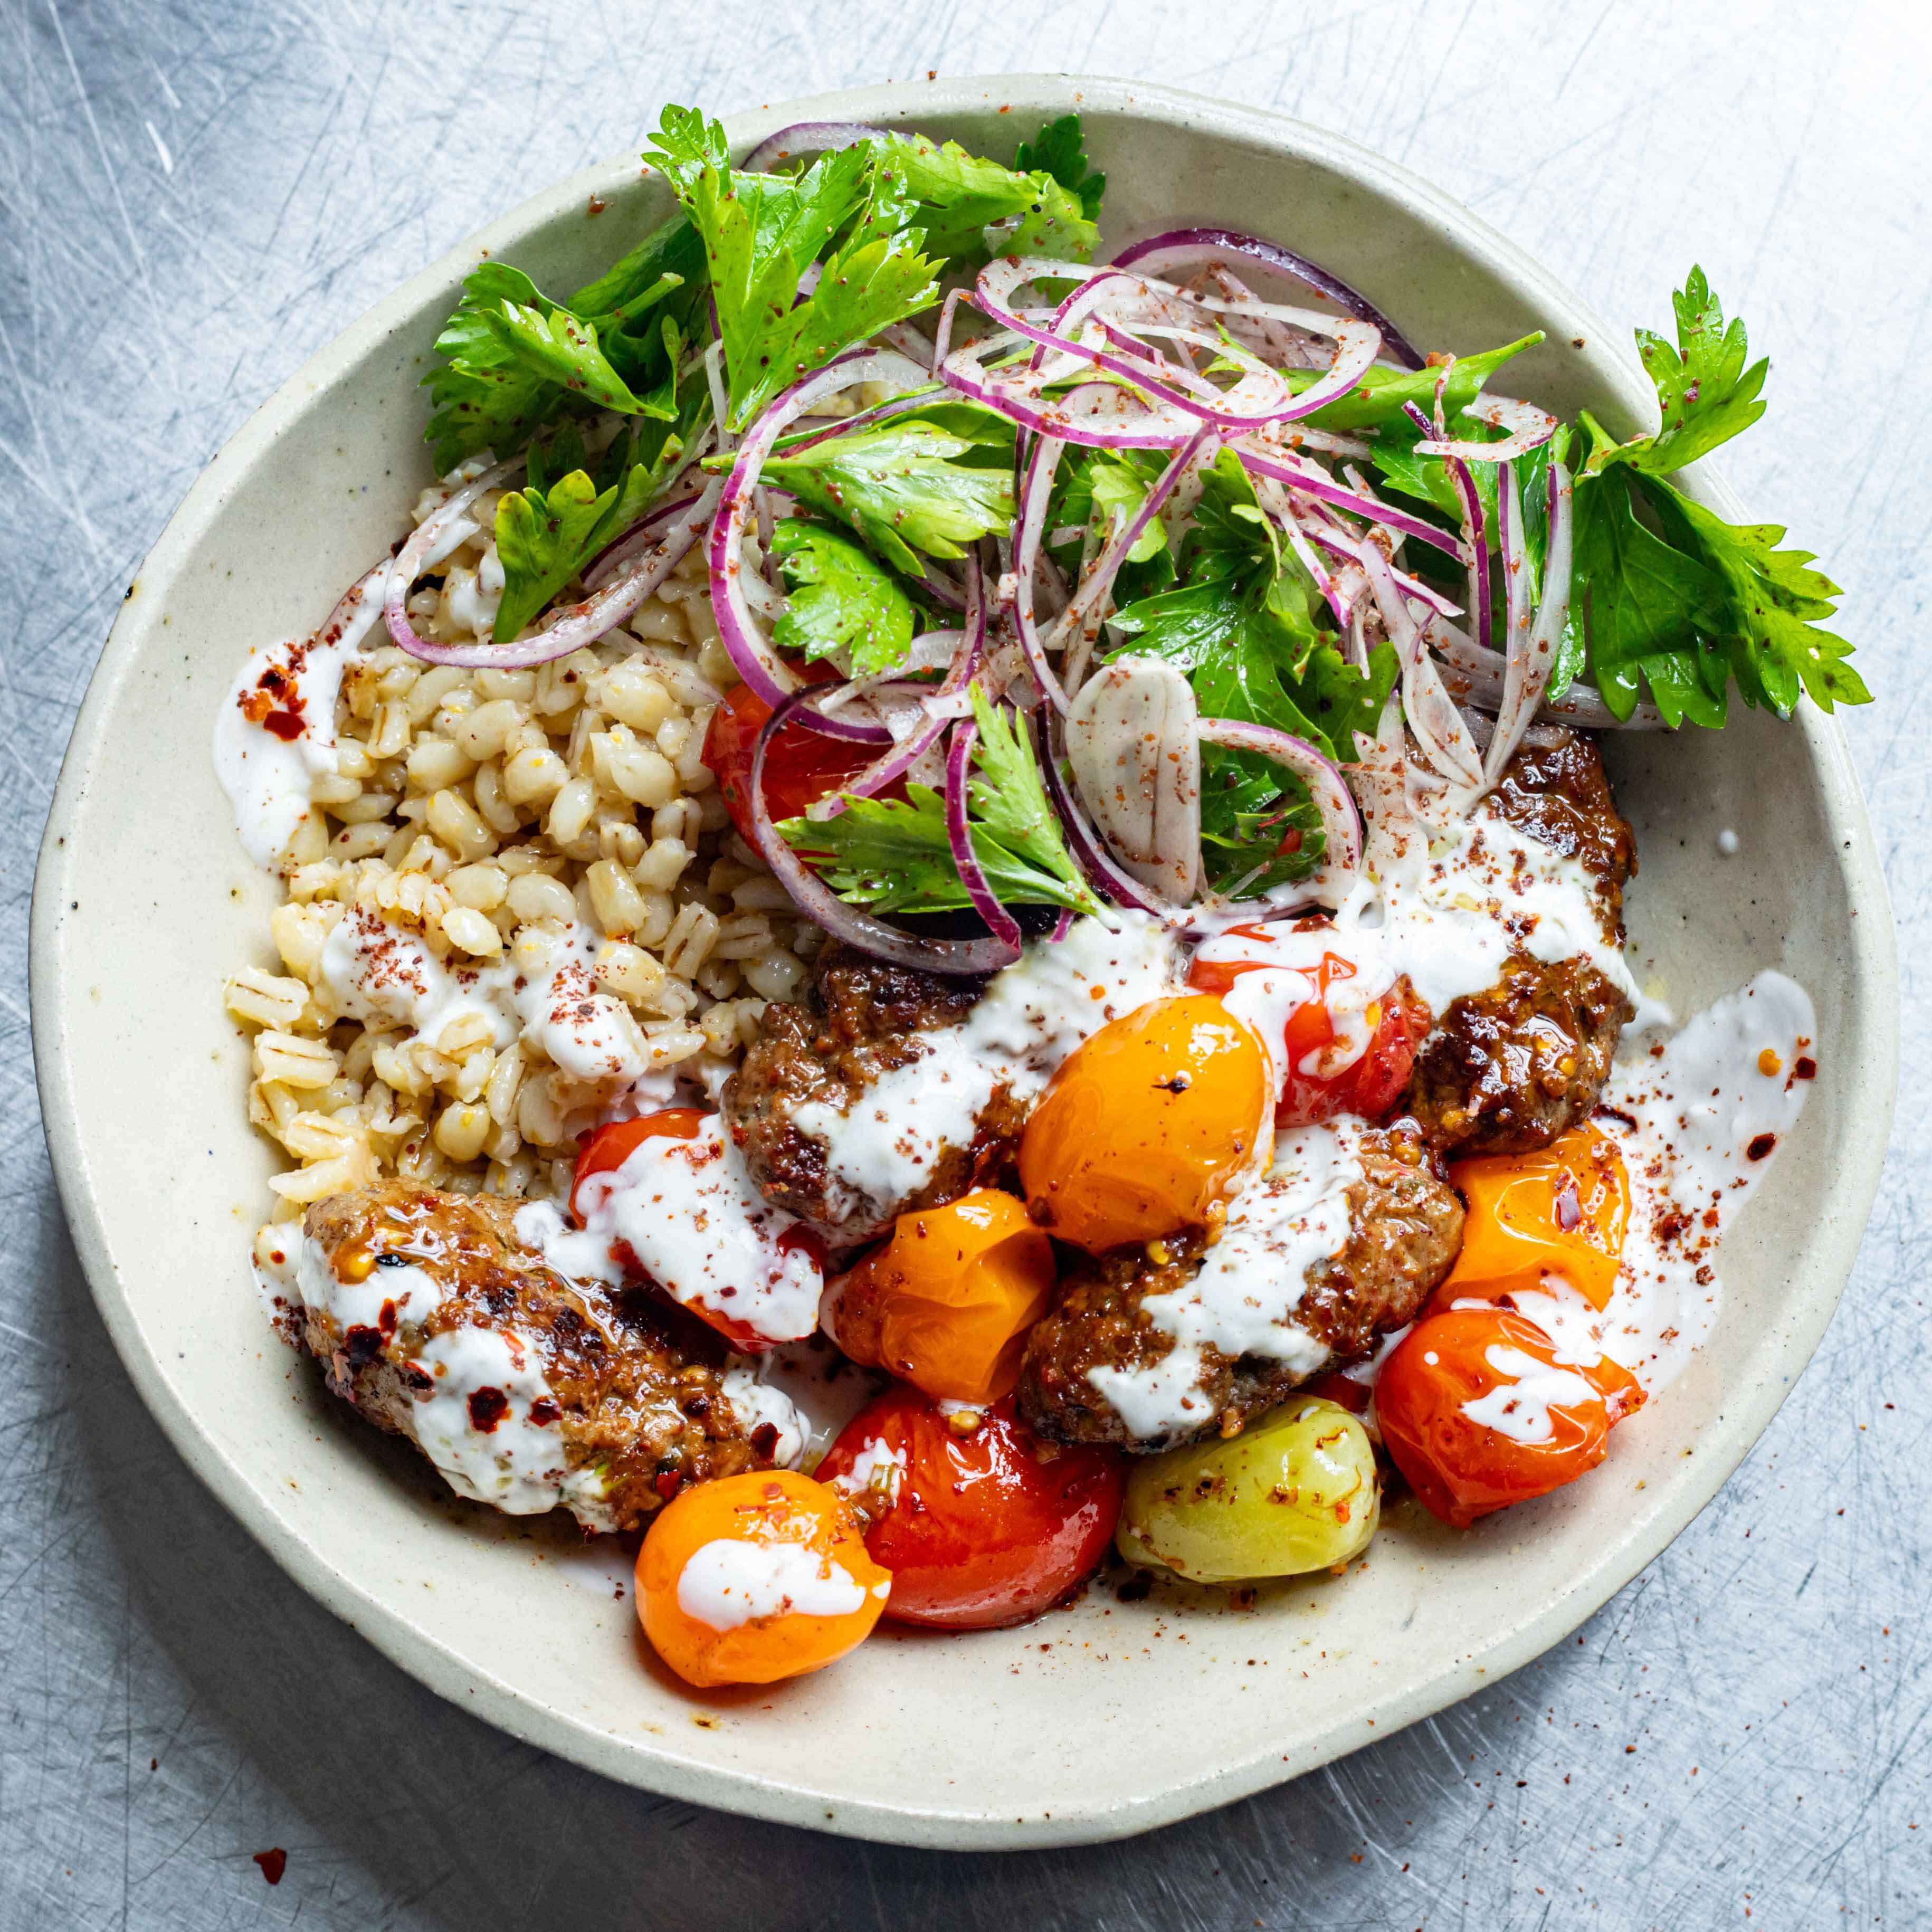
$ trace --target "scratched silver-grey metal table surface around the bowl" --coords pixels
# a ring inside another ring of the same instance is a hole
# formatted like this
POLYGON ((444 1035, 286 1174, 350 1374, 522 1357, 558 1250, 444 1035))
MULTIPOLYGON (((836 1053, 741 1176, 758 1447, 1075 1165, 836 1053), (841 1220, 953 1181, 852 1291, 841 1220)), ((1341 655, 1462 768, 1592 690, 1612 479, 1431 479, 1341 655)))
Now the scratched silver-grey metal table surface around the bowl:
POLYGON ((1580 1636, 1215 1816, 956 1859, 603 1783, 439 1702, 288 1582, 95 1318, 25 1005, 35 842, 114 605, 311 350, 533 187, 636 147, 667 99, 1070 68, 1345 128, 1607 317, 1662 325, 1692 259, 1748 315, 1772 427, 1725 464, 1849 587, 1878 703, 1847 730, 1905 929, 1911 1094, 1932 1072, 1909 668, 1932 587, 1926 21, 1915 0, 4 0, 0 1928, 1926 1922, 1932 1194, 1909 1099, 1810 1374, 1580 1636), (269 1847, 274 1888, 251 1862, 269 1847))

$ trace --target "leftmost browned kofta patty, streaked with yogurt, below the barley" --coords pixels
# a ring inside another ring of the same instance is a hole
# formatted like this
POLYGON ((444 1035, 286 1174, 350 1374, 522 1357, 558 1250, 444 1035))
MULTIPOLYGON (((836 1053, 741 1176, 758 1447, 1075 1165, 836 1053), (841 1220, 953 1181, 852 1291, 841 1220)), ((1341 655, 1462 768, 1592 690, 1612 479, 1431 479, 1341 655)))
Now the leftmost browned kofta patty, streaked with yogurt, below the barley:
POLYGON ((779 1432, 732 1405, 721 1341, 655 1296, 554 1273, 518 1238, 522 1206, 402 1180, 317 1202, 303 1223, 303 1341, 328 1387, 456 1488, 497 1451, 535 1480, 520 1509, 541 1507, 549 1486, 585 1528, 634 1528, 686 1482, 769 1468, 779 1432), (388 1283, 396 1298, 381 1296, 388 1283), (373 1320, 344 1325, 346 1312, 373 1320), (535 1378, 545 1387, 524 1401, 535 1378), (425 1408, 446 1385, 477 1439, 439 1455, 425 1408))

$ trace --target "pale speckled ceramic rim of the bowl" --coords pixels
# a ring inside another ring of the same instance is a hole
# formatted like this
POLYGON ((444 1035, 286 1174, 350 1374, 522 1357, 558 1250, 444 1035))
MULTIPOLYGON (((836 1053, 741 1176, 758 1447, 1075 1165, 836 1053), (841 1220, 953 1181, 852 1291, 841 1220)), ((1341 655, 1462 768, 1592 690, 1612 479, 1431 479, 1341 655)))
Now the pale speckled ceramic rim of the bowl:
MULTIPOLYGON (((1600 357, 1596 367, 1627 392, 1631 410, 1640 413, 1650 406, 1648 383, 1644 383, 1634 357, 1627 350, 1619 354, 1611 348, 1619 336, 1605 328, 1588 307, 1520 247, 1451 195, 1397 162, 1385 160, 1345 135, 1285 114, 1124 79, 1012 73, 838 89, 728 116, 724 128, 732 153, 742 155, 755 141, 800 120, 906 122, 929 114, 933 120, 945 122, 947 116, 983 108, 991 99, 1028 112, 1063 114, 1080 106, 1101 106, 1146 120, 1206 126, 1209 131, 1260 143, 1370 184, 1405 203, 1422 220, 1453 234, 1480 261, 1482 272, 1528 292, 1546 309, 1573 317, 1577 332, 1588 336, 1594 355, 1600 357)), ((259 456, 377 342, 413 321, 431 299, 448 299, 452 282, 475 265, 479 251, 487 249, 495 255, 514 247, 551 222, 580 213, 589 195, 634 182, 636 172, 636 158, 626 155, 566 176, 460 242, 350 323, 282 383, 209 462, 143 560, 137 582, 149 587, 168 583, 216 522, 230 491, 247 477, 259 456)), ((1721 477, 1712 473, 1708 464, 1696 466, 1690 477, 1696 497, 1721 514, 1743 520, 1743 504, 1721 477)), ((1855 1111, 1853 1130, 1835 1161, 1828 1273, 1837 1277, 1837 1287, 1820 1287, 1789 1312, 1789 1323, 1772 1364, 1777 1374, 1731 1391, 1721 1410, 1710 1418, 1700 1434, 1694 1470, 1679 1490, 1677 1507, 1663 1513, 1652 1530, 1625 1551, 1621 1561, 1604 1571, 1588 1573, 1578 1588, 1557 1592, 1524 1623, 1472 1648, 1455 1665, 1437 1671, 1406 1692, 1362 1706, 1362 1712, 1374 1714, 1366 1725, 1356 1714, 1349 1721, 1316 1733, 1289 1756, 1264 1752, 1225 1764, 1209 1777, 1167 1785, 1148 1797, 1107 1806, 1084 1808, 1074 1797, 1065 1806, 1055 1804, 1051 1812, 1036 1812, 1030 1818, 1010 1814, 993 1818, 983 1810, 952 1810, 933 1804, 896 1806, 835 1797, 808 1783, 763 1777, 755 1772, 694 1764, 663 1752, 649 1741, 620 1743, 582 1719, 537 1704, 512 1685, 477 1671, 425 1629, 371 1596, 348 1571, 317 1553, 278 1515, 270 1497, 251 1482, 247 1470, 216 1447, 214 1437, 189 1405, 176 1397, 141 1335, 133 1304, 110 1262, 102 1209, 95 1198, 85 1148, 75 1124, 66 1055, 70 989, 56 970, 62 902, 77 896, 71 891, 75 846, 70 844, 68 831, 79 811, 87 773, 95 765, 122 686, 139 663, 139 630, 141 620, 124 611, 116 618, 95 667, 64 753, 33 885, 29 999, 41 1113, 56 1188, 89 1291, 143 1403, 160 1422, 182 1459, 303 1590, 431 1690, 524 1743, 541 1745, 622 1783, 838 1835, 968 1851, 1076 1845, 1124 1837, 1211 1810, 1300 1776, 1360 1745, 1389 1737, 1528 1663, 1575 1631, 1652 1563, 1748 1455, 1816 1350, 1843 1294, 1884 1167, 1897 1088, 1897 958, 1886 881, 1843 730, 1835 719, 1804 703, 1799 707, 1795 728, 1804 734, 1824 815, 1839 835, 1835 860, 1845 877, 1847 895, 1853 904, 1878 914, 1851 922, 1845 935, 1847 980, 1870 995, 1872 1030, 1878 1037, 1866 1041, 1868 1047, 1876 1049, 1876 1057, 1866 1053, 1862 1063, 1851 1070, 1866 1105, 1855 1111)))

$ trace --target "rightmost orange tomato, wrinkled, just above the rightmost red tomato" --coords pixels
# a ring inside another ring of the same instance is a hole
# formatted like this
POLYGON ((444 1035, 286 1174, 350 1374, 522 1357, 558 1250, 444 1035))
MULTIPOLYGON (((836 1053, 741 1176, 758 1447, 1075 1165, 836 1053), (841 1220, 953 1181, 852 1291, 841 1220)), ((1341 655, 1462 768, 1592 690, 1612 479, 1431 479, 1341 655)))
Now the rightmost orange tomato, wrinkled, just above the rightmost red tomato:
POLYGON ((1592 1308, 1609 1302, 1631 1221, 1631 1177, 1609 1134, 1578 1126, 1534 1153, 1455 1161, 1449 1179, 1463 1190, 1468 1217, 1455 1269, 1435 1291, 1437 1306, 1536 1289, 1546 1271, 1592 1308))

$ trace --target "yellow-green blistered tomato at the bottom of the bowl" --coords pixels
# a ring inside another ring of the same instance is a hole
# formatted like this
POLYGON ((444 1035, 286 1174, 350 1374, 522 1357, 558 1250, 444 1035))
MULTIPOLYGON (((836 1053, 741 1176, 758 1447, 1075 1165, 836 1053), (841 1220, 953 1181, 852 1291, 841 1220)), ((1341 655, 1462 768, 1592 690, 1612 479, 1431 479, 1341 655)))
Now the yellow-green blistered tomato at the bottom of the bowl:
POLYGON ((1136 1457, 1115 1544, 1190 1582, 1250 1582, 1349 1563, 1379 1520, 1368 1430, 1304 1395, 1227 1441, 1136 1457))

